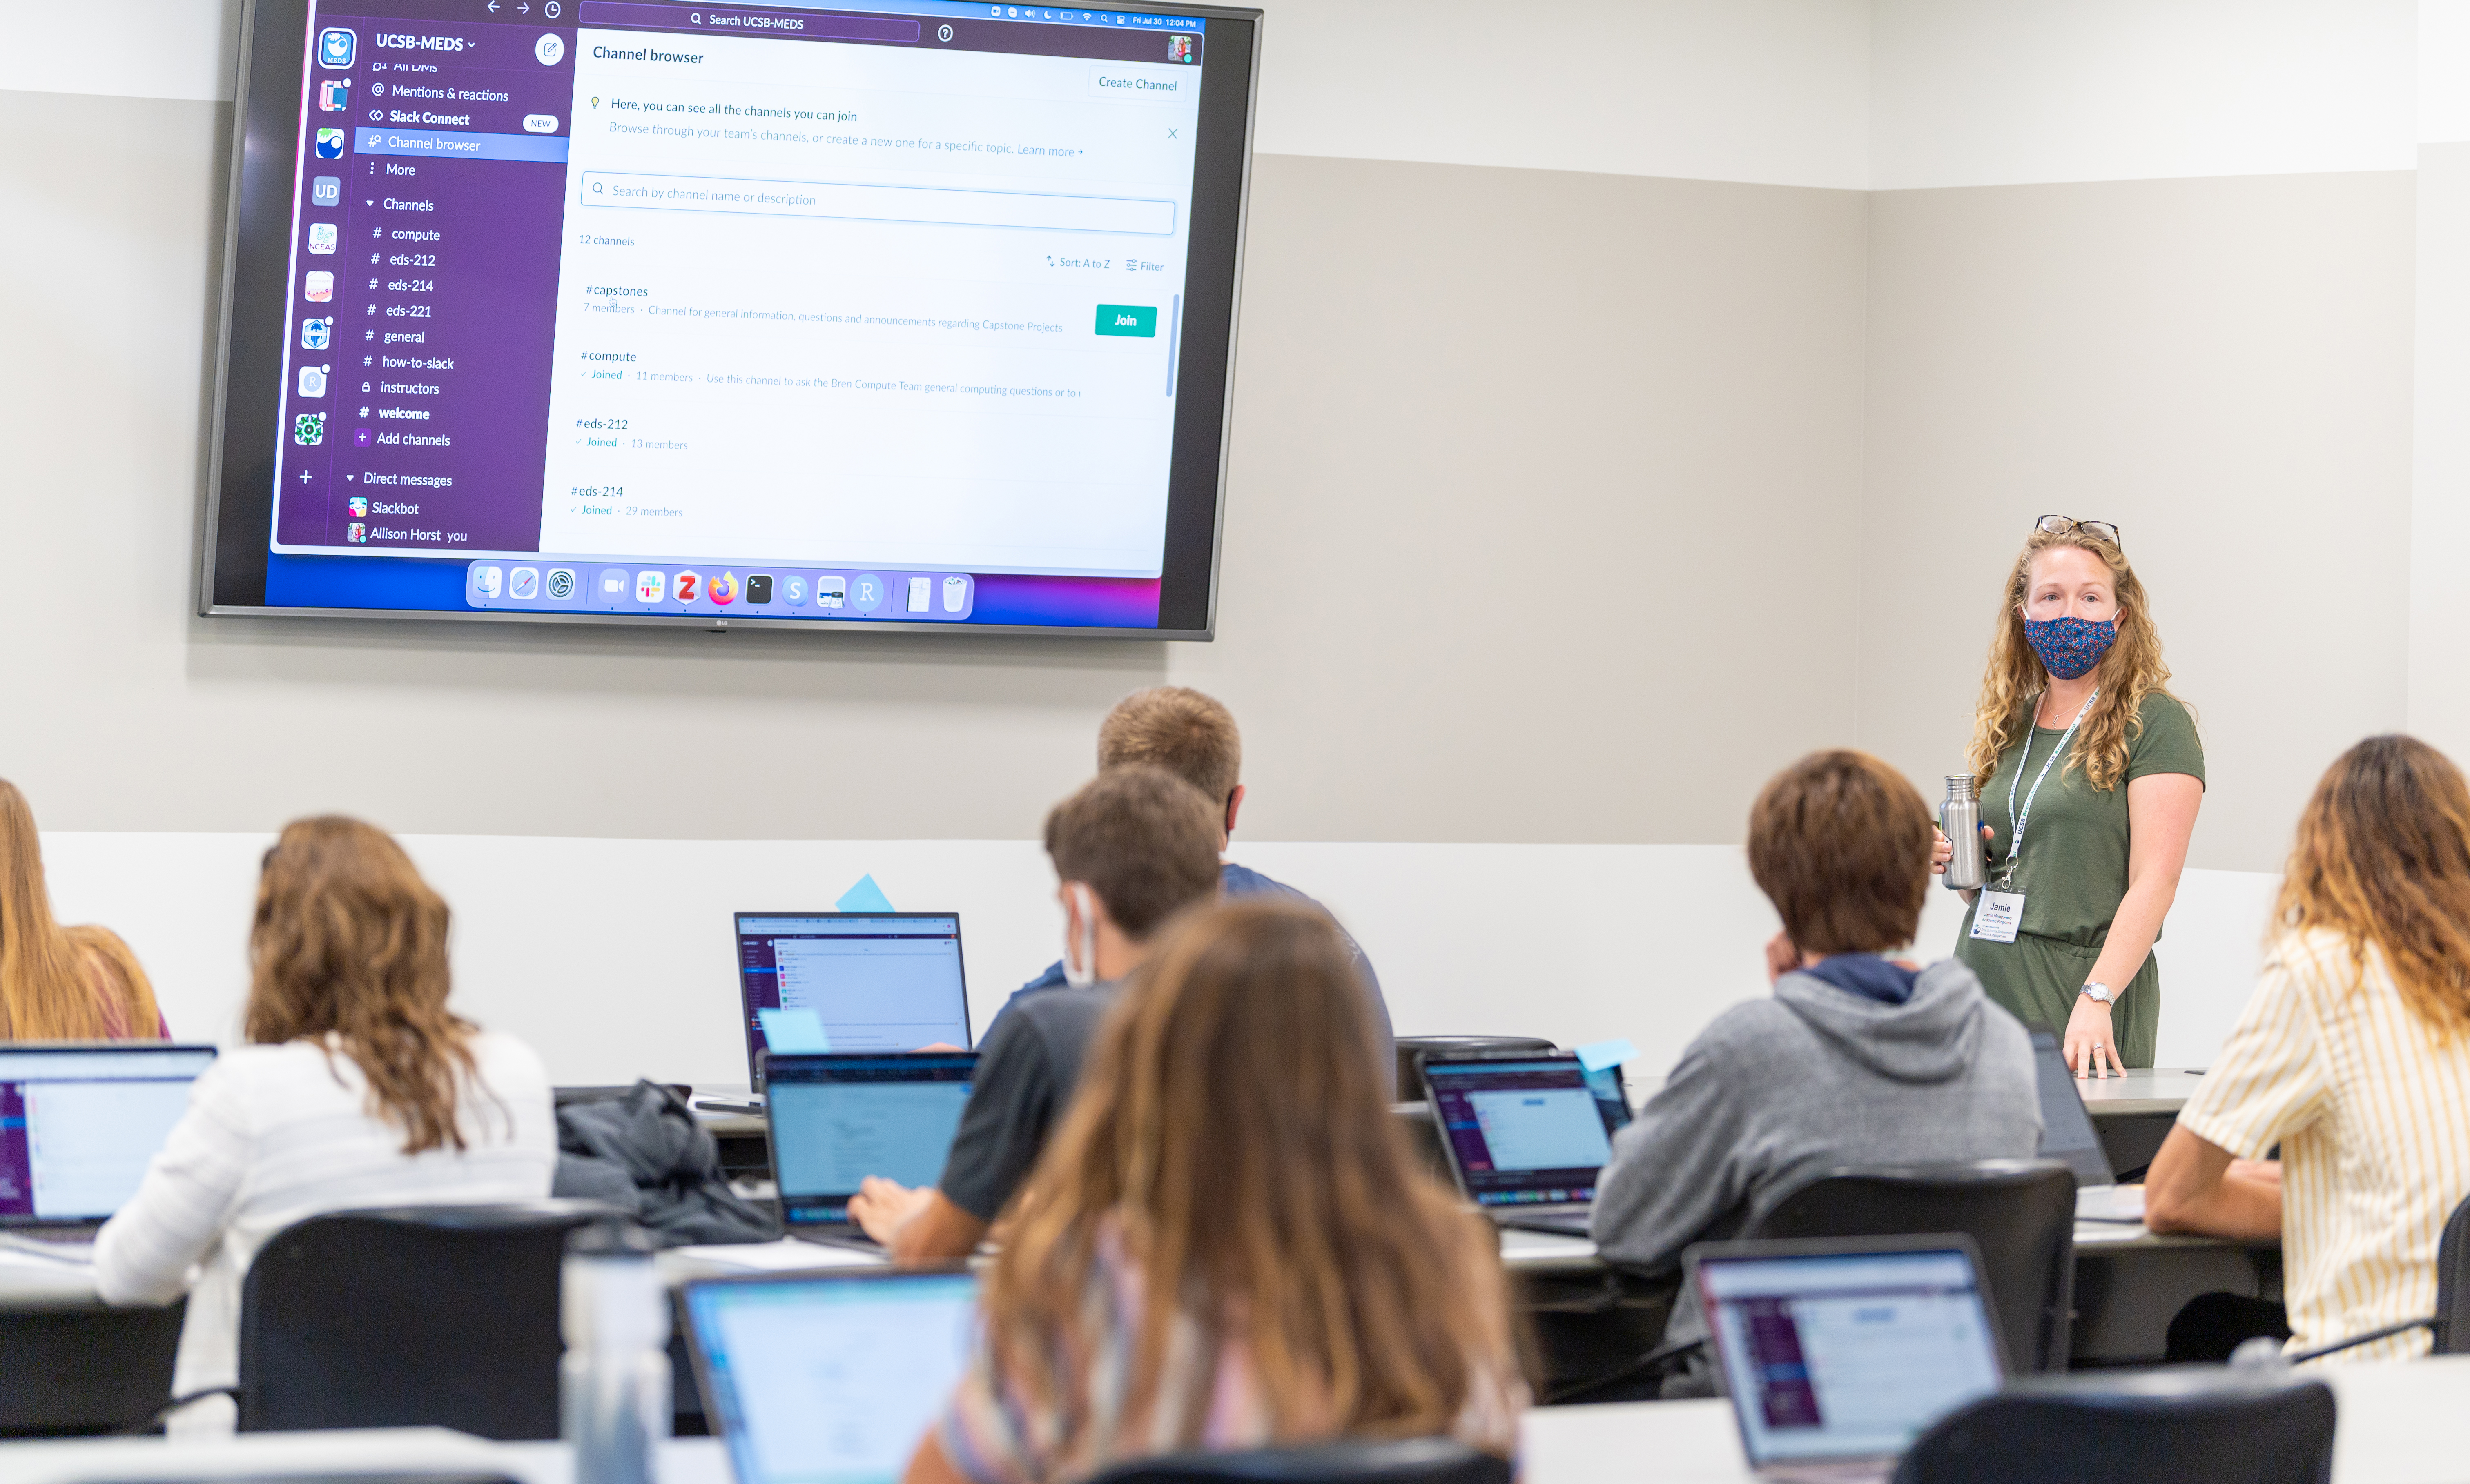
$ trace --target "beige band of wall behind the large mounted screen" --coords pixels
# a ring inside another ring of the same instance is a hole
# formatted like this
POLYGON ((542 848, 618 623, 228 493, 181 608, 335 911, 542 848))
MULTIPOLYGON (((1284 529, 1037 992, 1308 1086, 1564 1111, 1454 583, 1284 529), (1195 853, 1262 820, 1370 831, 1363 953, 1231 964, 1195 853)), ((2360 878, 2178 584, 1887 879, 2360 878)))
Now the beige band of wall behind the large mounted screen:
POLYGON ((1860 195, 1265 156, 1218 644, 198 620, 227 128, 0 94, 0 775, 47 827, 1018 840, 1176 677, 1260 837, 1702 842, 1850 728, 1766 583, 1860 496, 1860 195))

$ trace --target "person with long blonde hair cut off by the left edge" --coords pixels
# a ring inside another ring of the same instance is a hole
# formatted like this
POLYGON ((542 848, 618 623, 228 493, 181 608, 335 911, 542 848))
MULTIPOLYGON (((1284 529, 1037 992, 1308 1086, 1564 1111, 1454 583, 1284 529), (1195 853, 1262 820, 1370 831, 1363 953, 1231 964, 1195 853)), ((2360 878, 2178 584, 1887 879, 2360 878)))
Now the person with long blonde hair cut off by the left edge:
POLYGON ((42 879, 35 810, 0 778, 0 1040, 96 1042, 163 1035, 153 985, 111 928, 62 928, 42 879))

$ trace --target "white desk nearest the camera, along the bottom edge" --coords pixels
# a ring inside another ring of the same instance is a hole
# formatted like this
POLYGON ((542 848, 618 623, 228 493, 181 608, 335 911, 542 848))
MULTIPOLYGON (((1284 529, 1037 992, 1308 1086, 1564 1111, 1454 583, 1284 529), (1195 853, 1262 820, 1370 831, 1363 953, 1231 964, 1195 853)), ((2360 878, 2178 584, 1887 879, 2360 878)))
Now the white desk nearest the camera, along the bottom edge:
MULTIPOLYGON (((2337 1484, 2458 1484, 2470 1457, 2470 1356, 2408 1365, 2327 1368, 2339 1420, 2337 1484)), ((2100 1447, 2087 1440, 2085 1447, 2100 1447)), ((1751 1484, 1731 1405, 1615 1403, 1529 1412, 1522 1440, 1526 1484, 1751 1484)), ((341 1469, 494 1469, 521 1484, 573 1484, 573 1459, 558 1442, 482 1442, 435 1427, 385 1432, 272 1432, 230 1442, 161 1437, 5 1442, 0 1477, 10 1484, 94 1484, 96 1479, 257 1479, 341 1469)), ((731 1484, 719 1440, 682 1437, 659 1449, 659 1484, 731 1484)))

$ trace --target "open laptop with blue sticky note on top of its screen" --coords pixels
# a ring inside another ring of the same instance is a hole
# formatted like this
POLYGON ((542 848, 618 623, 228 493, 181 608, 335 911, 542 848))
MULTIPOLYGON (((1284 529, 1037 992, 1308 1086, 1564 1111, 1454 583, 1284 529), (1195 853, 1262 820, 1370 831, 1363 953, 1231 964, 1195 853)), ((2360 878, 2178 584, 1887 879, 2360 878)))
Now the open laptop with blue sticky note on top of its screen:
MULTIPOLYGON (((813 1010, 823 1047, 914 1052, 971 1047, 953 911, 741 911, 739 998, 746 1082, 763 1091, 763 1010, 813 1010)), ((761 1099, 753 1099, 761 1104, 761 1099)), ((748 1106, 753 1106, 748 1104, 748 1106)))

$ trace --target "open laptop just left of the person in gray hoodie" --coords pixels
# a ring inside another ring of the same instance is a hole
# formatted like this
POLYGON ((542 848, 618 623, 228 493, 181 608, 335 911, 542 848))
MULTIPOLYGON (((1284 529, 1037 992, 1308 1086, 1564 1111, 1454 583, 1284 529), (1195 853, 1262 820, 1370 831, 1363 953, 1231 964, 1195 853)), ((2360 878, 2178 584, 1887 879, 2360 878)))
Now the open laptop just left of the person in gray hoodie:
POLYGON ((1460 1195, 1504 1227, 1583 1237, 1596 1175, 1630 1121, 1620 1067, 1568 1052, 1425 1057, 1423 1096, 1460 1195))

